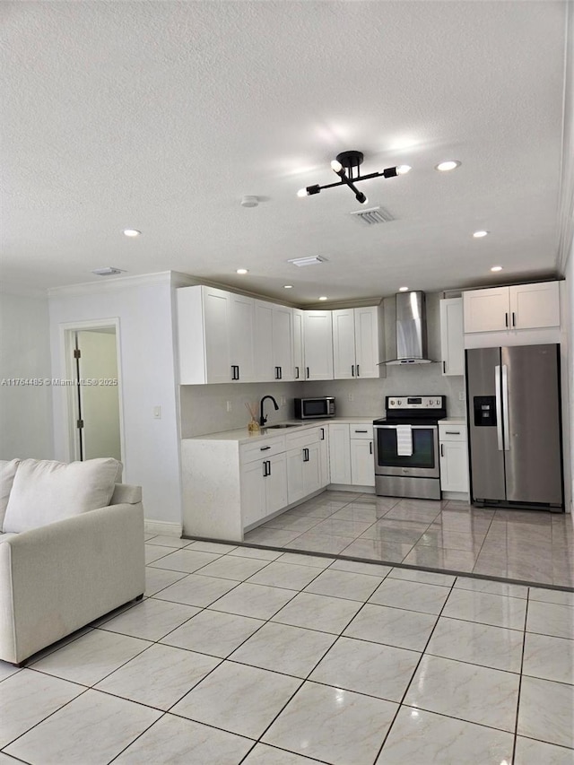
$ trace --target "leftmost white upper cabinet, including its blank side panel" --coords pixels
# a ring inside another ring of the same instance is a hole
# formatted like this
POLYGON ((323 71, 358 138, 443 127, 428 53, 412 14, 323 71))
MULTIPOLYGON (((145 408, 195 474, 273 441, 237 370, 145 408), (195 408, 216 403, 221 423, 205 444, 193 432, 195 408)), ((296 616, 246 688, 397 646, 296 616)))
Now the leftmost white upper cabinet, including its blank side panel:
POLYGON ((178 290, 182 385, 255 379, 254 300, 212 287, 178 290))

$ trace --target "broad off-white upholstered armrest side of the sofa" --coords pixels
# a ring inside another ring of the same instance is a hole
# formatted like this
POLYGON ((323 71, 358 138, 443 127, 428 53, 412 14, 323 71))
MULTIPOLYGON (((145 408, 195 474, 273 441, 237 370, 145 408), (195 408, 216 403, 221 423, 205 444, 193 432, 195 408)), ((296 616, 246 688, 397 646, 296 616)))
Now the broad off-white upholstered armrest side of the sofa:
POLYGON ((143 506, 113 505, 0 543, 0 659, 28 656, 143 594, 143 506))

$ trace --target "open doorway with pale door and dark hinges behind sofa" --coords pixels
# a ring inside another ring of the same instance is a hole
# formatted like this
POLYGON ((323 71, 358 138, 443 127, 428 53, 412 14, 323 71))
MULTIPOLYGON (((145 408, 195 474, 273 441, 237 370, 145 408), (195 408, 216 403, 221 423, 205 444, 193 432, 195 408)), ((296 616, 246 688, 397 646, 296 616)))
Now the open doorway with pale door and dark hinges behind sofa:
POLYGON ((122 459, 117 324, 65 330, 70 454, 122 459))

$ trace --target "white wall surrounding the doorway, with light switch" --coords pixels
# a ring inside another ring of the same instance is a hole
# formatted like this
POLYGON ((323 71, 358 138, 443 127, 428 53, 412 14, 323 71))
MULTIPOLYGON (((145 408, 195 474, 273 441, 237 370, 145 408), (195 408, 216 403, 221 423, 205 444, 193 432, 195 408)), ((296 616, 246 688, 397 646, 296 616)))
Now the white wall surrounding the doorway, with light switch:
MULTIPOLYGON (((65 376, 63 326, 119 321, 124 422, 123 481, 143 487, 148 520, 181 523, 178 404, 170 274, 60 288, 50 294, 52 366, 65 376), (153 416, 161 407, 161 419, 153 416)), ((54 439, 58 459, 68 459, 65 389, 54 390, 54 439)))

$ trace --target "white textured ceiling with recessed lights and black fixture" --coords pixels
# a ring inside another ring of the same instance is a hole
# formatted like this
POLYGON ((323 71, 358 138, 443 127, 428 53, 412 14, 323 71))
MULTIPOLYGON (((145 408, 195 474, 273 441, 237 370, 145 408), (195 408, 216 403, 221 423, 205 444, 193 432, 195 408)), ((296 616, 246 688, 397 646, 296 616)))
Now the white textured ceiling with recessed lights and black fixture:
POLYGON ((309 305, 555 274, 565 3, 0 13, 6 289, 101 282, 91 270, 114 265, 309 305), (296 196, 335 182, 329 162, 347 149, 364 152, 364 173, 413 166, 361 184, 393 222, 362 226, 346 188, 296 196), (433 170, 453 158, 458 170, 433 170), (309 255, 326 263, 287 263, 309 255))

